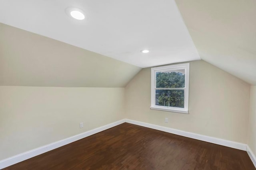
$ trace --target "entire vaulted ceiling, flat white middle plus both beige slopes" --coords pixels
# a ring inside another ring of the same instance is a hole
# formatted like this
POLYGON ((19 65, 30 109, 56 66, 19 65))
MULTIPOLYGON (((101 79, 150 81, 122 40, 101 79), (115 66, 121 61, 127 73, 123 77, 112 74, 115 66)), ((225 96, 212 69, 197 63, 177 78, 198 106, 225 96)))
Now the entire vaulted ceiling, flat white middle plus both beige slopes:
POLYGON ((0 85, 123 87, 141 68, 199 59, 256 85, 255 16, 255 0, 0 0, 0 85))

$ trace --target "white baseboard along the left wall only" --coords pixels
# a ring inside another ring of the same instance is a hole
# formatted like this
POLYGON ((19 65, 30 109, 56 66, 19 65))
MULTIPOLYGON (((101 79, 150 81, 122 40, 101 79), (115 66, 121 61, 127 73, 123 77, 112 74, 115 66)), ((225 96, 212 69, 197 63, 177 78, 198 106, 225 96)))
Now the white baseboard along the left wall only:
POLYGON ((58 147, 62 147, 64 145, 67 145, 67 144, 72 143, 74 141, 78 141, 78 140, 83 139, 85 137, 88 137, 90 135, 94 135, 95 133, 99 133, 99 132, 104 131, 106 129, 109 129, 111 127, 120 125, 124 122, 125 122, 125 119, 122 119, 120 121, 116 121, 114 123, 110 123, 108 125, 104 125, 102 127, 98 127, 96 129, 92 129, 90 131, 86 131, 84 133, 80 133, 78 135, 75 135, 75 136, 72 136, 72 137, 54 142, 54 143, 50 143, 49 145, 45 145, 45 146, 42 146, 42 147, 39 147, 39 148, 36 148, 36 149, 33 149, 33 150, 29 150, 27 152, 12 156, 10 158, 0 160, 0 169, 6 168, 7 166, 11 166, 13 164, 16 164, 16 163, 21 162, 23 160, 32 158, 32 157, 37 156, 39 154, 48 152, 50 150, 56 149, 58 147))

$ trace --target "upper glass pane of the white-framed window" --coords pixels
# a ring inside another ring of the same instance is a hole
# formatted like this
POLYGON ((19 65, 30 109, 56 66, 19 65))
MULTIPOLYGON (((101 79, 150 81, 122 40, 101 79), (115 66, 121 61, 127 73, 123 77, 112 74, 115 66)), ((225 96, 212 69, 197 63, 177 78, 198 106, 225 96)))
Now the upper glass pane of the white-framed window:
POLYGON ((184 88, 185 69, 156 72, 156 88, 184 88))

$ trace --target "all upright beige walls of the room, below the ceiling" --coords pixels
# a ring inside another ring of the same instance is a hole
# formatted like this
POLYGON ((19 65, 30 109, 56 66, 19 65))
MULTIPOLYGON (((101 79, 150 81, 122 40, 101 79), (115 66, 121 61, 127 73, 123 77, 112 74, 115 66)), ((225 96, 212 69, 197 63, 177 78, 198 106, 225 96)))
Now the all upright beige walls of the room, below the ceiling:
POLYGON ((189 95, 189 114, 151 110, 150 68, 126 88, 0 86, 0 160, 124 118, 248 143, 255 154, 256 86, 193 61, 189 95))

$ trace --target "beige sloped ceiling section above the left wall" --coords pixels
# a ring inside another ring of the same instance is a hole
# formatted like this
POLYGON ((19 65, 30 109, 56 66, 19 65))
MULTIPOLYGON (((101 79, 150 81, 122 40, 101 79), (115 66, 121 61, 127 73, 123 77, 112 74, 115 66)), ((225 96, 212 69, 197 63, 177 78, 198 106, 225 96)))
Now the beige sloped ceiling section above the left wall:
POLYGON ((0 85, 125 87, 140 67, 0 23, 0 85))

